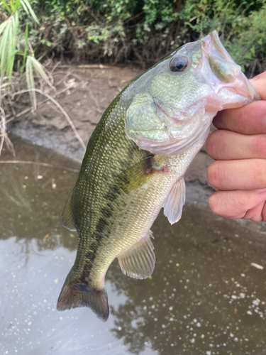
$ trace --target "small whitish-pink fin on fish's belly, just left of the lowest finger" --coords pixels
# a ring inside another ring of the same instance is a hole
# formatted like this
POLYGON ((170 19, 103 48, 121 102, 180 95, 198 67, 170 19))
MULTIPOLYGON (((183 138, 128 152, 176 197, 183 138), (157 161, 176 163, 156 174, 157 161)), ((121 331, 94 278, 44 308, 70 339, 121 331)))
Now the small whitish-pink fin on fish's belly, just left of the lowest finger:
POLYGON ((171 224, 178 222, 182 216, 182 209, 186 197, 184 178, 177 180, 163 204, 164 214, 171 224))

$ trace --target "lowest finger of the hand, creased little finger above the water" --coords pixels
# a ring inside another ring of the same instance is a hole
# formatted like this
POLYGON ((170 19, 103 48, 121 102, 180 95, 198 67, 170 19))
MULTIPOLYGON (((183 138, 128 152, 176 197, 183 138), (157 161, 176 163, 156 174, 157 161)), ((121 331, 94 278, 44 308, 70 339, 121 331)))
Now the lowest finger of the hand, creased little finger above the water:
POLYGON ((250 217, 257 222, 266 221, 265 200, 266 191, 216 191, 209 197, 209 205, 219 216, 231 219, 250 217), (260 207, 256 209, 257 206, 260 207))

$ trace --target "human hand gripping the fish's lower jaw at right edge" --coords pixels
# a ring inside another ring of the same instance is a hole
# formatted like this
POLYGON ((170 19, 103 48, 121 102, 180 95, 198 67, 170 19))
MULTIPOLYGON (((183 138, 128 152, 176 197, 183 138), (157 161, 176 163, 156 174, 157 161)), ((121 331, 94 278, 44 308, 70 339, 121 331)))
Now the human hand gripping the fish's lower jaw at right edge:
POLYGON ((218 112, 206 141, 215 159, 207 178, 218 189, 211 210, 231 219, 266 221, 266 72, 250 80, 262 101, 218 112))

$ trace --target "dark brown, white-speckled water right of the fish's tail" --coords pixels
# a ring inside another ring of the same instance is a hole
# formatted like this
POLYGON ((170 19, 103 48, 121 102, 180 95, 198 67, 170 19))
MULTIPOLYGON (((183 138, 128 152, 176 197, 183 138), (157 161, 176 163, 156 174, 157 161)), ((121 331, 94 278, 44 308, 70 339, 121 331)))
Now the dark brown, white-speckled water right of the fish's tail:
POLYGON ((182 222, 156 231, 151 280, 111 281, 127 297, 113 307, 116 337, 139 354, 265 354, 265 237, 187 206, 182 222), (204 224, 201 223, 204 221, 204 224), (160 237, 159 237, 160 236, 160 237))

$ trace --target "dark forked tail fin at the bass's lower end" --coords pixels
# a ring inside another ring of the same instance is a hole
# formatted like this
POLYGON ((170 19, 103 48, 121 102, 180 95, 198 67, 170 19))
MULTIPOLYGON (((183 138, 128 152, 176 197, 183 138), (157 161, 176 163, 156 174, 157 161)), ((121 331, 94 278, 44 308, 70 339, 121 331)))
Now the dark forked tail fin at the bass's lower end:
POLYGON ((97 289, 84 285, 68 275, 57 300, 57 310, 76 307, 89 307, 100 320, 106 322, 109 317, 109 305, 105 288, 97 289))

